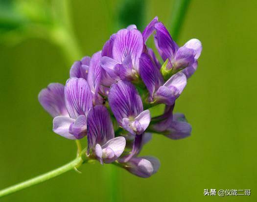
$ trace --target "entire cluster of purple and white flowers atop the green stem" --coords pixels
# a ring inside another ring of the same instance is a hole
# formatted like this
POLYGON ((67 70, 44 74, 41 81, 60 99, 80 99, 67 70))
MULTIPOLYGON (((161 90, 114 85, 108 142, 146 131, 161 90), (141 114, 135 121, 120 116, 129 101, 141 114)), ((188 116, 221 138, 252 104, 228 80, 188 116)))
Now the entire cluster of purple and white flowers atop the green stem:
POLYGON ((139 157, 152 133, 184 138, 191 126, 174 104, 197 68, 202 50, 197 39, 179 47, 158 18, 141 33, 130 25, 113 34, 101 51, 76 61, 66 85, 52 83, 39 102, 53 116, 54 133, 68 139, 88 138, 87 157, 114 163, 147 178, 157 172, 154 157, 139 157), (164 64, 146 46, 154 42, 164 64), (165 104, 163 115, 149 108, 165 104), (148 108, 148 109, 147 109, 148 108))

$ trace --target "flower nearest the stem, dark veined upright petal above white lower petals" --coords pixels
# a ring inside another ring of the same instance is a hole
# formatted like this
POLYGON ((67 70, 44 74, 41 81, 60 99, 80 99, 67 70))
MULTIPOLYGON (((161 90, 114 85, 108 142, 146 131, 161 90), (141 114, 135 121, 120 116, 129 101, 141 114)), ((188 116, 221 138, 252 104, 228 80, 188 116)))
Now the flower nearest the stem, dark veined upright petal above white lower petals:
POLYGON ((88 113, 88 147, 101 163, 111 163, 123 153, 124 137, 114 137, 111 117, 103 106, 95 106, 88 113))

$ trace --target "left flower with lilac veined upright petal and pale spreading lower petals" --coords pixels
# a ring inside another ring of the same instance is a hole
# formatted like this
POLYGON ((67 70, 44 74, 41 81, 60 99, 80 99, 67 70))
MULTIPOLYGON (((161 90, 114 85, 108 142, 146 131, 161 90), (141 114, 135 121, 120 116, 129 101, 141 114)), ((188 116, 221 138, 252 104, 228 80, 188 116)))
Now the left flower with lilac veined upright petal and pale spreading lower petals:
POLYGON ((70 117, 56 116, 53 119, 53 131, 68 139, 80 139, 87 134, 87 114, 93 107, 92 92, 85 79, 70 78, 64 94, 70 117))

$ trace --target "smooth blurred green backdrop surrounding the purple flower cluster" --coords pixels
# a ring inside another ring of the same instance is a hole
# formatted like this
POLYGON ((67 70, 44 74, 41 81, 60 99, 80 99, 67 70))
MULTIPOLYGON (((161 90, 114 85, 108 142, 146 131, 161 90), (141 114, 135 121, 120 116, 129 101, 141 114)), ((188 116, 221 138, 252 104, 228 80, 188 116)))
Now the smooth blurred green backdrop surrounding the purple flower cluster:
MULTIPOLYGON (((1 12, 11 15, 9 2, 1 0, 1 12)), ((41 3, 48 1, 33 2, 43 9, 41 3)), ((172 0, 140 1, 127 12, 123 4, 121 0, 71 1, 70 21, 83 55, 100 50, 113 32, 130 23, 128 17, 141 27, 155 16, 169 25, 172 0)), ((192 135, 178 141, 154 135, 141 155, 158 157, 159 172, 141 179, 117 169, 120 201, 257 201, 256 9, 256 0, 191 1, 178 44, 198 38, 203 52, 175 111, 186 114, 192 135), (210 188, 251 189, 252 193, 204 196, 204 189, 210 188)), ((46 19, 42 23, 47 24, 46 19)), ((76 153, 73 141, 52 132, 52 118, 37 100, 49 83, 65 83, 71 60, 36 26, 38 33, 29 30, 29 37, 24 37, 17 23, 10 27, 2 23, 0 33, 0 189, 63 165, 76 153)), ((70 54, 76 53, 71 49, 70 54)), ((111 166, 85 164, 79 168, 82 174, 70 171, 0 201, 106 202, 111 166)))

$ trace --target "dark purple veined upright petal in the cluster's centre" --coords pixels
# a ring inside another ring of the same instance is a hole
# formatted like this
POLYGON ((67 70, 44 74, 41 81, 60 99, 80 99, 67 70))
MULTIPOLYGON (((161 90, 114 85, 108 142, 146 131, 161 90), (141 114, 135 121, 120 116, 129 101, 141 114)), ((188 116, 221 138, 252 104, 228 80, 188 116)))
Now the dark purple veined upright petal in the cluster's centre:
POLYGON ((117 84, 113 84, 108 101, 120 125, 123 118, 136 117, 143 111, 141 97, 133 84, 128 81, 118 81, 117 84))

